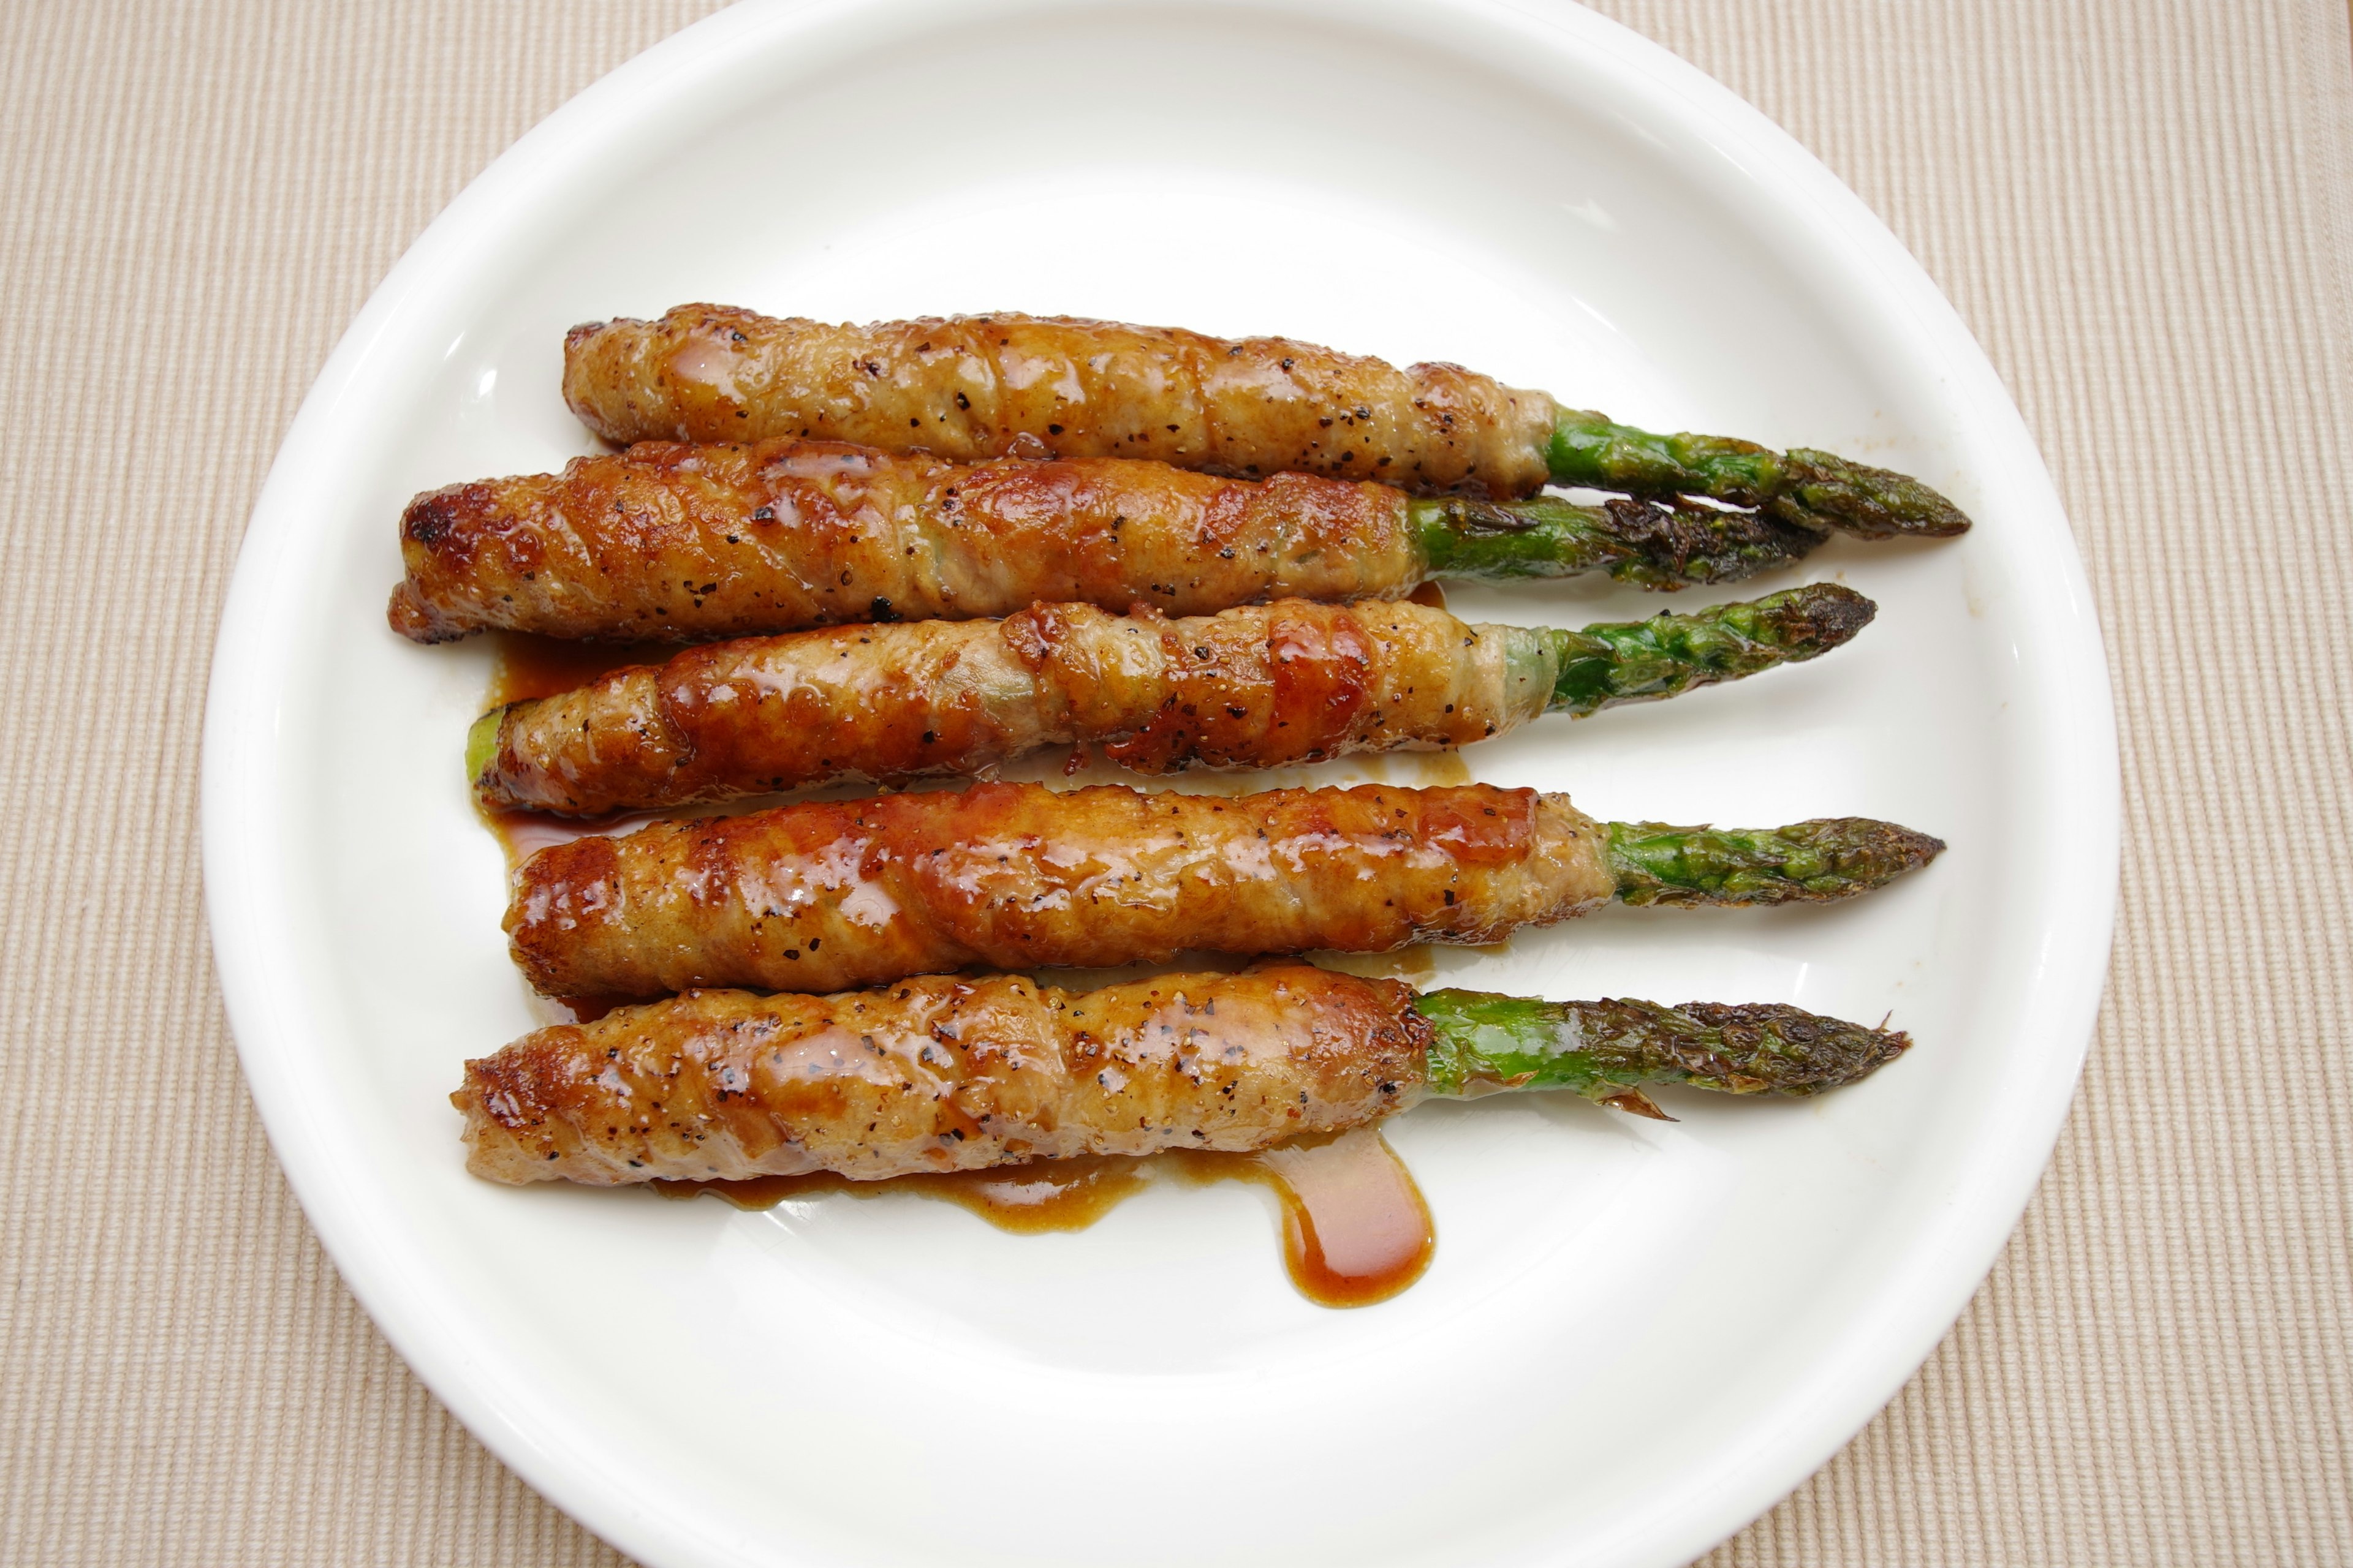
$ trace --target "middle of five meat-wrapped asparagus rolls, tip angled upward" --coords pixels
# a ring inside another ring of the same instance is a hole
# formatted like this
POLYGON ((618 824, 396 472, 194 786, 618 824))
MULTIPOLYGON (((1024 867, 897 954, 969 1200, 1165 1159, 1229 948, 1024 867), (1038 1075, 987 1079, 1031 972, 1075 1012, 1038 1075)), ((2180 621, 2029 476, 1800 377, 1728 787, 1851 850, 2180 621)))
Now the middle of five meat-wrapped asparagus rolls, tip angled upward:
POLYGON ((492 809, 600 816, 833 778, 972 773, 1104 743, 1136 771, 1287 766, 1449 748, 1814 658, 1871 599, 1814 583, 1584 632, 1468 625, 1424 604, 1282 599, 1219 616, 1040 604, 687 649, 482 715, 466 771, 492 809))

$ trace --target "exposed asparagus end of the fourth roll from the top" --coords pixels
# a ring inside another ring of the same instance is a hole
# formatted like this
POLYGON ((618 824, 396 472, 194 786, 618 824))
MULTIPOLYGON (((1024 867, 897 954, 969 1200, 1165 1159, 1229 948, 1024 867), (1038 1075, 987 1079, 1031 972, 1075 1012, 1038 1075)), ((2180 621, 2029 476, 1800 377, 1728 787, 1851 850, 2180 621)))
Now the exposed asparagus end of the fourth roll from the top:
POLYGON ((1609 872, 1621 903, 1821 903, 1887 886, 1944 853, 1944 839, 1826 816, 1788 827, 1673 827, 1609 823, 1609 872))

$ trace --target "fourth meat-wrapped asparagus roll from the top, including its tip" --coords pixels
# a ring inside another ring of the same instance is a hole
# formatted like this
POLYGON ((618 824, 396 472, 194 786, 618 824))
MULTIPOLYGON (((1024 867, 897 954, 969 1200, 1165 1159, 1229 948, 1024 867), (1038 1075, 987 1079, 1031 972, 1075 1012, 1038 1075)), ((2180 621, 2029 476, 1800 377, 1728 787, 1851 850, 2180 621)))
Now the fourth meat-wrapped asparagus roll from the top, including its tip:
POLYGON ((1941 842, 1864 818, 1777 830, 1595 823, 1567 795, 1461 785, 1144 795, 988 783, 652 823, 532 856, 515 964, 555 997, 831 992, 951 969, 1497 943, 1609 900, 1861 893, 1941 842))

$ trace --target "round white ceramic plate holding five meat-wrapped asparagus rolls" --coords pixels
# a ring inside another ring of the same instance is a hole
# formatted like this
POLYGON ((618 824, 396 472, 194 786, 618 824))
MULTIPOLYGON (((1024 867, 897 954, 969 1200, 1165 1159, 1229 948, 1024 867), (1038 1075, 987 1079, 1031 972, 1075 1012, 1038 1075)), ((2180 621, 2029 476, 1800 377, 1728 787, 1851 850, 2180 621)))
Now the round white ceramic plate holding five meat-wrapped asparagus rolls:
POLYGON ((1868 1420, 1991 1265, 2082 1058, 2115 844, 2082 571, 1953 310, 1725 89, 1482 0, 755 5, 673 38, 492 165, 351 327, 254 512, 205 738, 221 978, 304 1208, 482 1441, 666 1568, 1680 1563, 1868 1420), (1852 649, 1471 757, 1600 816, 1887 816, 1951 839, 1937 867, 1438 959, 1894 1013, 1918 1048, 1819 1103, 1678 1095, 1673 1126, 1419 1110, 1391 1138, 1438 1258, 1360 1312, 1292 1293, 1242 1187, 1007 1237, 918 1199, 468 1178, 445 1095, 532 1020, 459 776, 487 654, 384 628, 393 522, 586 451, 562 329, 694 299, 1287 331, 1939 484, 1967 538, 1809 562, 1882 604, 1852 649))

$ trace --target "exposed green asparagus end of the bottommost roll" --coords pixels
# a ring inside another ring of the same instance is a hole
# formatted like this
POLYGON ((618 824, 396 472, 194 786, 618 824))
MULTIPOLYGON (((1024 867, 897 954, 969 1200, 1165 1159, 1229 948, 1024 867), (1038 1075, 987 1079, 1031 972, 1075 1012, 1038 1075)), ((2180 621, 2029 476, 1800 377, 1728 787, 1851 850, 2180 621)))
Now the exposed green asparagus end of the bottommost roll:
POLYGON ((1911 1046, 1901 1030, 1840 1023, 1784 1004, 1532 1001, 1433 990, 1414 1001, 1433 1027, 1438 1095, 1572 1088, 1640 1117, 1666 1112, 1645 1084, 1812 1095, 1852 1084, 1911 1046))

